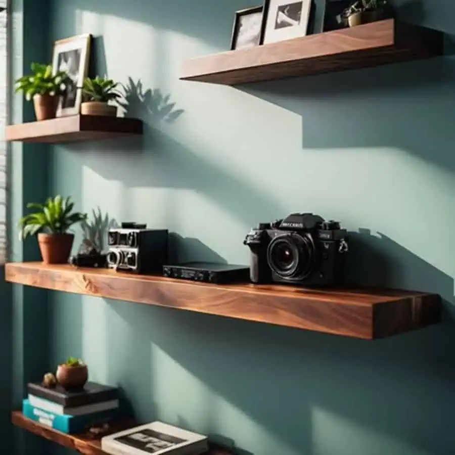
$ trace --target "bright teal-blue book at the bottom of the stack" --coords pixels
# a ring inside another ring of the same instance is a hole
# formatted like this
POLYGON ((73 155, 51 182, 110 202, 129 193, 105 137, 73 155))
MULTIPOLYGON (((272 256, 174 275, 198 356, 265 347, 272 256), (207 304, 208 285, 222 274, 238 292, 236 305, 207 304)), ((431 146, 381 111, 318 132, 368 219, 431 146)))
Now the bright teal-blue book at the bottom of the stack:
POLYGON ((44 411, 39 407, 32 406, 28 399, 22 402, 22 414, 41 425, 67 434, 84 433, 91 425, 110 422, 120 418, 118 410, 109 410, 82 416, 59 415, 44 411))

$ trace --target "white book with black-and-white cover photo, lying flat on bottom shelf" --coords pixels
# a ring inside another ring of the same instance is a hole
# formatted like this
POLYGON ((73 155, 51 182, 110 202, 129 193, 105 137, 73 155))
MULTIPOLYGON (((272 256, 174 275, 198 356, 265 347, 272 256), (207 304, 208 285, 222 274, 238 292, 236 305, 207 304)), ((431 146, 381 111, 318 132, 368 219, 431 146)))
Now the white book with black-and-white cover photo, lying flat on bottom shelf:
POLYGON ((152 422, 104 436, 101 449, 111 455, 198 455, 208 451, 208 442, 202 434, 152 422))

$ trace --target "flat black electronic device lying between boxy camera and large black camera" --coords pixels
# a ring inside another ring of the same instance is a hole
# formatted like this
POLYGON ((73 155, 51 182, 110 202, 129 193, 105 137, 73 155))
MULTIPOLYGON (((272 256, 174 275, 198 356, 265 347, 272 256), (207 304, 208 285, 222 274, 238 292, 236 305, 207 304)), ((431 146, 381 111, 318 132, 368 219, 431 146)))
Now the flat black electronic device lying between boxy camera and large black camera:
POLYGON ((246 265, 186 262, 178 265, 164 265, 163 276, 202 283, 244 283, 249 281, 250 269, 246 265))

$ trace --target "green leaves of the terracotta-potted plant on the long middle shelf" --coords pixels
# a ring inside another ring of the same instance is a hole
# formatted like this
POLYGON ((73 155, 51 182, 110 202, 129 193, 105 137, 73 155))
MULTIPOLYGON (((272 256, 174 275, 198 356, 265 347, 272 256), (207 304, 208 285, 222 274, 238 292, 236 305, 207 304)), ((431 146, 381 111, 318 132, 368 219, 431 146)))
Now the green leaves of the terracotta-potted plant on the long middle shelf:
POLYGON ((44 204, 30 203, 27 208, 36 208, 39 211, 25 215, 19 221, 19 238, 26 239, 40 231, 51 234, 64 234, 70 226, 87 219, 86 213, 73 212, 74 203, 71 197, 62 196, 48 198, 44 204))

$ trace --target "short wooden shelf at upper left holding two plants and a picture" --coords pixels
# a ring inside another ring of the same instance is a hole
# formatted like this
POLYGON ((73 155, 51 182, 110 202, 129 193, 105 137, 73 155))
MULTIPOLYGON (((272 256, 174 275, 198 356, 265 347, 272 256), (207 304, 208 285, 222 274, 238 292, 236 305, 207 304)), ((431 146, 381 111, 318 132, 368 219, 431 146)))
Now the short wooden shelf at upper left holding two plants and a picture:
POLYGON ((28 122, 6 127, 6 141, 64 143, 100 141, 120 136, 138 135, 143 123, 135 118, 73 115, 40 122, 28 122))

